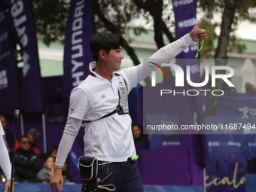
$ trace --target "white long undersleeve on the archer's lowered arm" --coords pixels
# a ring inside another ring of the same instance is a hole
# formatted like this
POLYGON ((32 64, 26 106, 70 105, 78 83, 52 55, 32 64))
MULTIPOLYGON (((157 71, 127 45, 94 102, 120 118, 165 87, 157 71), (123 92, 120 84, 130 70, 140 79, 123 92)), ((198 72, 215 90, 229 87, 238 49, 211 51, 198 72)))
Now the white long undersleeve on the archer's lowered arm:
POLYGON ((82 120, 75 119, 72 117, 67 118, 65 130, 63 131, 62 139, 59 142, 59 148, 55 161, 56 166, 64 166, 69 151, 72 148, 76 136, 78 135, 81 123, 82 120))

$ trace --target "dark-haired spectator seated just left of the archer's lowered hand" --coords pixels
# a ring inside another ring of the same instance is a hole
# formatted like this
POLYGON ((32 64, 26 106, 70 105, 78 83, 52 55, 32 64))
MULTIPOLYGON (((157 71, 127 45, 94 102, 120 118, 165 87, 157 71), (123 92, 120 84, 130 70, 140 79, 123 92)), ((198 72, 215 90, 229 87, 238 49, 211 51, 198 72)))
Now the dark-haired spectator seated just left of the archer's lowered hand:
POLYGON ((54 158, 50 155, 44 156, 44 167, 36 175, 37 179, 50 181, 53 175, 54 158))

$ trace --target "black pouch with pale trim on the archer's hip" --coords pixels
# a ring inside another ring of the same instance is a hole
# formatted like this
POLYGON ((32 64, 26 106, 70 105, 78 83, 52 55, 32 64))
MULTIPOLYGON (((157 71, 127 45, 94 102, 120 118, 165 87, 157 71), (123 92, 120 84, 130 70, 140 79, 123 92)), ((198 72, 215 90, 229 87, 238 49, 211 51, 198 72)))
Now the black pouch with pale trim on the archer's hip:
POLYGON ((92 180, 98 175, 98 160, 95 157, 81 156, 78 164, 82 179, 92 180))

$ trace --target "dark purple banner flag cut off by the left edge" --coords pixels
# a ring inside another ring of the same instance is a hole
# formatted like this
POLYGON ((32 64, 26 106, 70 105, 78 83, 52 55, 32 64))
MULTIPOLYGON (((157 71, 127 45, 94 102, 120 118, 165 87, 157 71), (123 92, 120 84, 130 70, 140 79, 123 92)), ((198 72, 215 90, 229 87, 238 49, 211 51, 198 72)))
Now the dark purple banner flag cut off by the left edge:
POLYGON ((14 114, 19 106, 14 48, 8 29, 4 1, 0 1, 0 113, 14 114))

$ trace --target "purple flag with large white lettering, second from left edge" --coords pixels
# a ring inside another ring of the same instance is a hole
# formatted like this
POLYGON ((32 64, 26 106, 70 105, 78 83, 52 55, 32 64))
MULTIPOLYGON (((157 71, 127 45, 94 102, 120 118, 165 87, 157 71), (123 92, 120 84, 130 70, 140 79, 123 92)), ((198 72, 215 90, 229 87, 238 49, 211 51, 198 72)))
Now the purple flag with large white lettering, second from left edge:
POLYGON ((24 62, 20 87, 21 109, 28 113, 41 112, 41 74, 31 0, 11 0, 8 13, 24 62))

